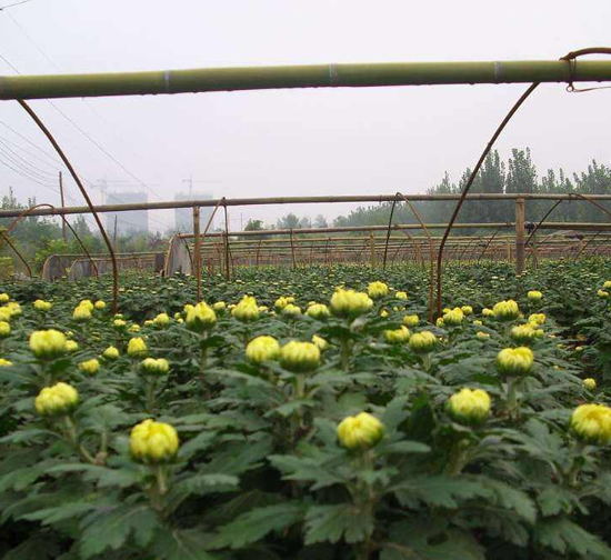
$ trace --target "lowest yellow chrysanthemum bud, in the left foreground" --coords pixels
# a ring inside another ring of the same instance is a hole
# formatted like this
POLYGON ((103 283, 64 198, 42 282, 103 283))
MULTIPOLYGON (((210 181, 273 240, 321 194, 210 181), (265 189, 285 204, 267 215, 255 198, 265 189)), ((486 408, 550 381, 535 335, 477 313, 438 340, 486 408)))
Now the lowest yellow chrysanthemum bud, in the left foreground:
POLYGON ((134 426, 130 436, 130 453, 134 461, 144 464, 171 462, 178 454, 180 440, 176 429, 150 418, 134 426))

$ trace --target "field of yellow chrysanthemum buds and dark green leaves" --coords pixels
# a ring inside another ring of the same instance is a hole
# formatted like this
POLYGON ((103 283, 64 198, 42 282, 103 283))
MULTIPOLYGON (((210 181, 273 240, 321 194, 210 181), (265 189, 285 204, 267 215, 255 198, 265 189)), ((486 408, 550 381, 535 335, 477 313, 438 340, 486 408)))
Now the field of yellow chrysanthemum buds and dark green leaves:
POLYGON ((611 268, 4 282, 0 558, 611 559, 611 268))

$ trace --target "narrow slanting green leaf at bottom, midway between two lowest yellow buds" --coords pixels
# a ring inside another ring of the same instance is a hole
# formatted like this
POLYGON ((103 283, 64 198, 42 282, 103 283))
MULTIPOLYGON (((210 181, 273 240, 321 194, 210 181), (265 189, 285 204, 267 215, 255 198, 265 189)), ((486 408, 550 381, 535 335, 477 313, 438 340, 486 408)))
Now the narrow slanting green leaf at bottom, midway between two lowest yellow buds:
POLYGON ((283 531, 299 523, 306 513, 301 502, 286 502, 257 508, 222 527, 210 547, 240 549, 261 540, 272 531, 283 531))

